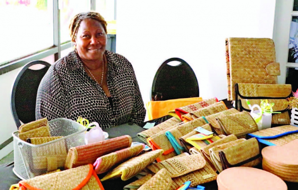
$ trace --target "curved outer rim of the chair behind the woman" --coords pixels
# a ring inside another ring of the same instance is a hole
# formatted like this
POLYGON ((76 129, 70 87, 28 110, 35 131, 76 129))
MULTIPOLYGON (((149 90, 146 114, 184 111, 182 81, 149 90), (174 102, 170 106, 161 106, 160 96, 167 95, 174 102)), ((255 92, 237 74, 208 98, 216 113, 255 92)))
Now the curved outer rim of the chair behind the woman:
POLYGON ((17 128, 19 128, 21 126, 21 122, 18 118, 18 114, 16 112, 16 109, 15 109, 15 90, 17 88, 17 85, 18 85, 18 82, 21 78, 21 76, 23 75, 23 73, 31 66, 33 65, 37 65, 37 64, 41 64, 41 65, 44 65, 44 66, 48 66, 50 67, 51 64, 49 64, 48 62, 46 61, 41 61, 41 60, 36 60, 36 61, 31 61, 30 63, 27 63, 26 65, 23 66, 23 68, 18 72, 16 78, 15 78, 15 82, 13 84, 13 88, 11 90, 11 99, 10 99, 10 110, 11 110, 11 113, 13 115, 13 119, 15 120, 15 124, 17 126, 17 128))

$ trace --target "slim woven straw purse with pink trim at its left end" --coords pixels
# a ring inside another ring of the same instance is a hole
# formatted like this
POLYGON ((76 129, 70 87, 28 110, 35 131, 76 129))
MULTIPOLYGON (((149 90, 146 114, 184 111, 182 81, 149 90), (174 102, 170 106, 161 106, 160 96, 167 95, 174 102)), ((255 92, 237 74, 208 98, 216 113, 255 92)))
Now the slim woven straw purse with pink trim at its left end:
POLYGON ((126 161, 138 155, 145 147, 145 144, 139 144, 133 147, 128 147, 110 154, 101 156, 96 159, 93 164, 94 170, 97 174, 102 174, 109 171, 117 164, 126 161))

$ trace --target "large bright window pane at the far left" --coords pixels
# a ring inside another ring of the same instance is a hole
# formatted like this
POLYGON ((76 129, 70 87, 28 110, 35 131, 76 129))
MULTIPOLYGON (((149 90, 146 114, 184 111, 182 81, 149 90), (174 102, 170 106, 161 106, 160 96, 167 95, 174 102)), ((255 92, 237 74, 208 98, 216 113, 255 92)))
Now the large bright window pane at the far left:
POLYGON ((0 65, 53 46, 53 0, 0 1, 0 65))

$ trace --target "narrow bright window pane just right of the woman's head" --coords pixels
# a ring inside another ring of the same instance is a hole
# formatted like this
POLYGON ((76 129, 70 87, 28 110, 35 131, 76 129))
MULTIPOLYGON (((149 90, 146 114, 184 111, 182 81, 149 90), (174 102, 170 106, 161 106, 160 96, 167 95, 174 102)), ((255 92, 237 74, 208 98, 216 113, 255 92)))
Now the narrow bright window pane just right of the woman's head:
POLYGON ((96 0, 95 10, 107 21, 108 34, 116 34, 115 1, 96 0))

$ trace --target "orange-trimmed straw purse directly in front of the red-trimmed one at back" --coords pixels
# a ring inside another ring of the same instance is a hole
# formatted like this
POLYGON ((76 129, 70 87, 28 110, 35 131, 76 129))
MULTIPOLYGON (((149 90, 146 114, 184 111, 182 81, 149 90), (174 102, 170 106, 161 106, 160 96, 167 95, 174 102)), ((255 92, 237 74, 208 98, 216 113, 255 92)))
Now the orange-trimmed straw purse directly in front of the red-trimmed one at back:
POLYGON ((214 113, 218 113, 218 112, 221 112, 221 111, 224 111, 224 110, 227 110, 227 109, 228 108, 226 107, 224 102, 220 101, 220 102, 216 102, 212 105, 209 105, 205 108, 201 108, 201 109, 198 109, 196 111, 187 113, 187 114, 181 116, 181 118, 184 122, 189 122, 189 121, 191 121, 193 119, 197 119, 201 116, 209 116, 209 115, 212 115, 214 113))

